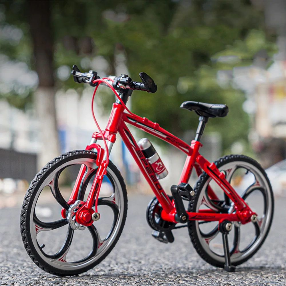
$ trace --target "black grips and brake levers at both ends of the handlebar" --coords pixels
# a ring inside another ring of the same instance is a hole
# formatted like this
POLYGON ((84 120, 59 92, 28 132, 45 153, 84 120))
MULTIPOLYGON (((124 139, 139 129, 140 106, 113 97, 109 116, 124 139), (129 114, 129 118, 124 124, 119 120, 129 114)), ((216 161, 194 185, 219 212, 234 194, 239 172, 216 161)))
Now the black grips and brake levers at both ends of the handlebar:
MULTIPOLYGON (((82 73, 76 65, 73 65, 71 74, 74 76, 74 81, 76 83, 87 83, 91 86, 96 86, 97 83, 94 84, 93 81, 100 78, 97 75, 97 72, 92 70, 90 70, 88 73, 82 73)), ((113 87, 116 90, 120 90, 122 88, 130 88, 131 90, 142 90, 151 93, 156 92, 157 86, 154 83, 154 80, 150 78, 150 76, 144 72, 141 72, 139 76, 142 79, 142 82, 132 81, 129 76, 122 74, 120 77, 116 77, 114 79, 113 87)))

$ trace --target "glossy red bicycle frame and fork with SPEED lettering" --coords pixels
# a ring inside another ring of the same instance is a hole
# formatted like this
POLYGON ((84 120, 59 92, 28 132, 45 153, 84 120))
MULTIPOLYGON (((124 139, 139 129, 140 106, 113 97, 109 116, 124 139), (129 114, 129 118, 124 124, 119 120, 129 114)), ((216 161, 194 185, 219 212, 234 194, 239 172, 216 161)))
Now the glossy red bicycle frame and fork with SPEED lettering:
MULTIPOLYGON (((250 218, 255 212, 253 212, 249 206, 245 203, 245 201, 237 194, 237 192, 233 189, 233 187, 229 184, 229 182, 225 178, 225 174, 220 172, 214 163, 208 162, 202 155, 199 153, 199 149, 202 144, 199 141, 193 140, 191 145, 188 145, 181 139, 177 138, 170 132, 161 128, 158 123, 152 122, 147 118, 142 118, 135 114, 128 114, 124 112, 124 106, 120 103, 114 103, 110 117, 105 130, 102 130, 102 134, 105 139, 108 140, 108 143, 114 143, 116 140, 116 134, 119 132, 123 142, 128 148, 129 152, 133 156, 135 162, 137 163, 140 171, 144 175, 148 184, 152 188, 155 196, 160 202, 163 210, 161 212, 162 219, 170 222, 177 223, 175 220, 176 208, 174 206, 174 202, 172 202, 169 197, 166 195, 163 190, 160 182, 156 178, 154 170, 150 163, 144 157, 142 151, 140 150, 136 140, 132 136, 130 130, 128 129, 126 123, 139 128, 149 134, 152 134, 169 144, 175 146, 180 149, 184 153, 187 154, 187 158, 184 164, 184 168, 182 170, 182 174, 180 176, 179 183, 185 182, 187 183, 190 175, 192 173, 193 167, 196 170, 198 176, 202 173, 202 170, 205 171, 225 192, 225 194, 231 199, 234 203, 234 208, 232 213, 217 213, 214 210, 208 208, 204 210, 199 210, 198 212, 187 212, 189 220, 200 220, 200 221, 241 221, 241 223, 245 224, 250 221, 250 218)), ((103 139, 102 135, 99 132, 95 132, 92 137, 94 138, 94 143, 90 144, 86 147, 86 149, 91 150, 96 148, 98 151, 98 157, 101 157, 99 160, 102 160, 102 150, 96 141, 98 139, 103 139)), ((85 213, 83 211, 88 212, 88 209, 92 208, 94 204, 94 200, 96 198, 96 194, 99 193, 100 185, 102 181, 103 174, 100 172, 100 169, 104 167, 105 161, 102 161, 101 164, 98 163, 98 171, 96 178, 94 179, 92 189, 90 190, 90 194, 86 201, 86 204, 82 206, 82 212, 78 212, 81 214, 77 219, 80 223, 87 225, 86 221, 84 221, 83 217, 85 213)), ((68 201, 69 204, 76 201, 78 191, 80 188, 80 182, 84 178, 85 168, 81 168, 80 173, 78 174, 78 178, 76 180, 76 184, 72 191, 71 197, 68 201)), ((208 196, 210 199, 218 199, 216 194, 213 192, 210 186, 208 186, 208 196)), ((98 195, 97 195, 98 197, 98 195)), ((80 210, 80 209, 79 209, 80 210)), ((96 212, 97 212, 97 204, 96 204, 96 212)), ((62 215, 64 216, 63 212, 62 215)), ((87 215, 89 218, 89 215, 87 215)), ((92 222, 91 222, 92 223, 92 222)))

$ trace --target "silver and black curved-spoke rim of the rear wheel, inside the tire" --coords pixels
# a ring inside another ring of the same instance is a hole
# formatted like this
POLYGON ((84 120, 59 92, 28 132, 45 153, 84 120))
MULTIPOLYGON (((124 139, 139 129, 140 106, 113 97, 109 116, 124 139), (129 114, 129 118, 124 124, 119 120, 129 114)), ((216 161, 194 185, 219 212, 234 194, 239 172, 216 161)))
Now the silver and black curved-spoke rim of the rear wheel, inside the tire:
MULTIPOLYGON (((257 251, 268 233, 273 215, 272 191, 261 170, 249 162, 232 161, 221 166, 219 170, 225 172, 226 179, 258 215, 255 223, 250 222, 242 225, 239 222, 233 222, 228 239, 231 263, 240 264, 241 261, 247 260, 257 251), (238 180, 238 177, 241 180, 240 186, 235 186, 237 184, 235 180, 238 180)), ((206 208, 220 213, 235 212, 233 203, 211 178, 206 180, 201 190, 196 204, 196 212, 206 208), (209 198, 207 194, 209 184, 219 200, 209 198)), ((196 221, 195 228, 198 240, 206 254, 223 265, 225 258, 218 222, 196 221)))

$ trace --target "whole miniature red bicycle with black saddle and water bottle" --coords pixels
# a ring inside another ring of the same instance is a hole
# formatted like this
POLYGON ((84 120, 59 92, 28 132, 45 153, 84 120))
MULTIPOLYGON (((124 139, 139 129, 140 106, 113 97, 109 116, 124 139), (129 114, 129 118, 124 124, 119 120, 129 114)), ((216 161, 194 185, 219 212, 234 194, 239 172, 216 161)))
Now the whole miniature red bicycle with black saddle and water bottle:
POLYGON ((265 171, 244 155, 228 155, 210 163, 199 153, 208 118, 226 116, 226 105, 182 103, 181 108, 194 110, 199 116, 196 137, 189 145, 126 107, 132 90, 156 92, 157 86, 147 74, 140 73, 142 82, 134 82, 124 74, 99 78, 94 71, 81 73, 76 65, 72 74, 77 83, 95 87, 92 103, 100 84, 108 86, 118 99, 105 130, 98 126, 92 109, 99 132, 94 132, 90 145, 85 150, 54 158, 35 176, 27 190, 21 211, 21 235, 27 253, 37 266, 56 275, 76 275, 100 263, 115 246, 127 215, 126 186, 109 160, 117 133, 155 194, 146 211, 153 237, 171 243, 173 230, 188 227, 194 248, 202 259, 227 271, 235 271, 235 266, 258 251, 271 227, 274 210, 273 192, 265 171), (179 183, 171 186, 172 196, 164 192, 159 182, 168 171, 153 145, 146 138, 137 143, 126 123, 186 153, 179 183), (103 140, 104 148, 97 140, 103 140), (188 183, 193 167, 199 177, 194 188, 188 183), (74 174, 73 189, 67 193, 67 188, 62 189, 59 182, 61 176, 71 174, 74 174), (234 184, 238 178, 241 184, 234 184), (44 217, 39 211, 39 202, 50 194, 46 189, 57 202, 52 218, 44 217), (188 210, 183 200, 188 201, 188 210))

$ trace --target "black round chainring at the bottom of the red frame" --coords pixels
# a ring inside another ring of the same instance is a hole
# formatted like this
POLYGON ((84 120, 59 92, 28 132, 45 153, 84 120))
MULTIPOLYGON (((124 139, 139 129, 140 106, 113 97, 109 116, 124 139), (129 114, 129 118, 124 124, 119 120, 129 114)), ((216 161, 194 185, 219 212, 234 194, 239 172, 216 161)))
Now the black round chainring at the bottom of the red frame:
MULTIPOLYGON (((173 199, 172 196, 169 196, 169 198, 170 200, 173 199)), ((161 218, 162 209, 163 208, 156 197, 150 200, 146 210, 148 225, 155 231, 170 231, 175 227, 176 223, 163 220, 161 218)))

